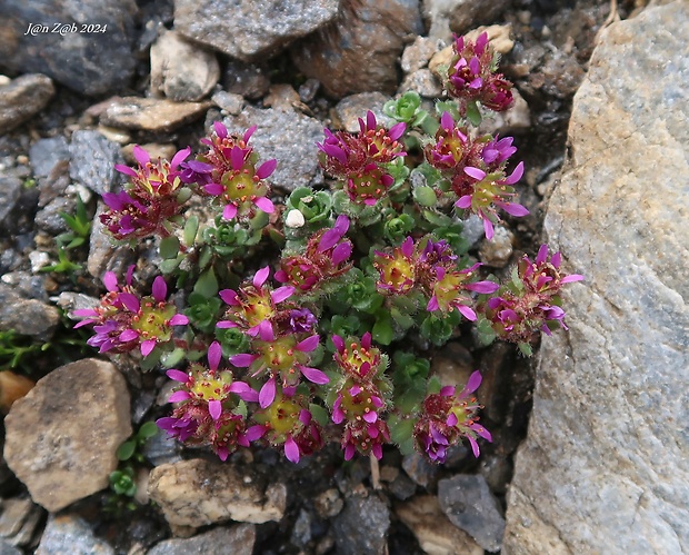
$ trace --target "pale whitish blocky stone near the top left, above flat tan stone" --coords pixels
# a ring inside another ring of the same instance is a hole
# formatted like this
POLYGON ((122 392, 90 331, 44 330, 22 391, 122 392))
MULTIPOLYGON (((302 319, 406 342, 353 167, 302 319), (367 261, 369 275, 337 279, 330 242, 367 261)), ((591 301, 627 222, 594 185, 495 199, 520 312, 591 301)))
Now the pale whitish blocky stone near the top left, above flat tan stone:
POLYGON ((220 65, 212 52, 163 31, 151 46, 151 90, 170 100, 201 100, 220 79, 220 65))

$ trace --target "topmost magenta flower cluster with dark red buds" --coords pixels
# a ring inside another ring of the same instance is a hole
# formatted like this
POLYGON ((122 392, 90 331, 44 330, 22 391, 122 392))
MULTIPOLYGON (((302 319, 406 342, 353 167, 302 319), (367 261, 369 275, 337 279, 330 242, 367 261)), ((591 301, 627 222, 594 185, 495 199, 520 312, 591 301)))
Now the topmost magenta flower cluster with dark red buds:
POLYGON ((488 33, 481 33, 476 42, 458 37, 452 50, 446 80, 448 96, 462 100, 460 108, 468 101, 478 101, 490 110, 507 110, 513 100, 512 83, 495 71, 498 59, 488 33))

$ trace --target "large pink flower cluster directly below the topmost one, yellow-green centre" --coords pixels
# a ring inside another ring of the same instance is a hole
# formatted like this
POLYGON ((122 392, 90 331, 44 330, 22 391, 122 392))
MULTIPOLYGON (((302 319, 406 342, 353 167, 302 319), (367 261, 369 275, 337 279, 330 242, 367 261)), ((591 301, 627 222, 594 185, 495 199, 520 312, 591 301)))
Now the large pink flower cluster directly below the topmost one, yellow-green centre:
POLYGON ((450 182, 457 196, 455 206, 481 218, 488 239, 492 239, 493 225, 500 221, 497 208, 512 216, 529 214, 512 200, 516 194, 511 186, 523 175, 523 162, 507 175, 507 161, 517 151, 512 141, 511 137, 471 139, 468 130, 457 127, 446 111, 435 142, 425 148, 428 163, 450 182))

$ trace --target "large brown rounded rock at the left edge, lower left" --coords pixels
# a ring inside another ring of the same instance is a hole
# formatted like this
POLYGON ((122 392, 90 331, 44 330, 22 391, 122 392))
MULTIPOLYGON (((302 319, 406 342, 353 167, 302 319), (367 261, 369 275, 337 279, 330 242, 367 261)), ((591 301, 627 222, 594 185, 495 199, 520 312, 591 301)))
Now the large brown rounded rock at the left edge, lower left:
POLYGON ((36 503, 60 511, 108 486, 131 435, 127 384, 110 363, 70 363, 14 402, 4 425, 8 466, 36 503))

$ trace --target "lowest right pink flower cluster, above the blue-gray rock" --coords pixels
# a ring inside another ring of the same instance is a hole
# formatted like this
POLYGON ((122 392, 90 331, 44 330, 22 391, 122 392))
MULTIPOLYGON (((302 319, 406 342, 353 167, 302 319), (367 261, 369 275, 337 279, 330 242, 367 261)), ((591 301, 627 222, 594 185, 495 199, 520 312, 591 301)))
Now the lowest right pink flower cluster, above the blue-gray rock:
POLYGON ((471 394, 481 385, 481 373, 475 371, 466 387, 456 394, 453 386, 446 386, 440 393, 431 394, 423 399, 421 416, 413 428, 417 447, 436 463, 445 463, 447 449, 466 437, 471 444, 473 456, 480 449, 478 437, 492 440, 490 433, 478 424, 477 412, 480 408, 471 394))

